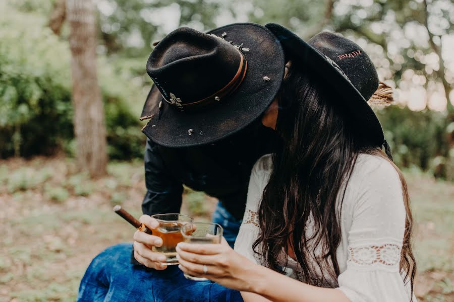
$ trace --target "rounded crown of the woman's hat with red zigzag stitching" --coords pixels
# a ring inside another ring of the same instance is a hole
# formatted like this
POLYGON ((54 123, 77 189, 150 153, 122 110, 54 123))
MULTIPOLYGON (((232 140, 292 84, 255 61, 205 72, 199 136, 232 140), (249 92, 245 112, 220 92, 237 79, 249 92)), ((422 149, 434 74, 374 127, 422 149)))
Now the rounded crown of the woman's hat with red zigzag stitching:
POLYGON ((368 100, 378 87, 378 74, 367 53, 355 42, 331 32, 313 36, 308 44, 328 61, 368 100), (340 70, 339 70, 340 69, 340 70))

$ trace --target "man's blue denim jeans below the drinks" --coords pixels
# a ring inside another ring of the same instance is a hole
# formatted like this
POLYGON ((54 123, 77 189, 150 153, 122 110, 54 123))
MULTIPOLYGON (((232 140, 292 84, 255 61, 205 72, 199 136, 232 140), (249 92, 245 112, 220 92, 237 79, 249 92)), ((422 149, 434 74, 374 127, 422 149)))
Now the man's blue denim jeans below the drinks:
MULTIPOLYGON (((232 217, 220 203, 213 221, 223 226, 224 237, 233 246, 241 221, 232 217)), ((186 279, 176 265, 163 271, 132 265, 131 248, 130 243, 118 244, 96 256, 82 278, 77 301, 243 301, 239 291, 211 281, 186 279)))

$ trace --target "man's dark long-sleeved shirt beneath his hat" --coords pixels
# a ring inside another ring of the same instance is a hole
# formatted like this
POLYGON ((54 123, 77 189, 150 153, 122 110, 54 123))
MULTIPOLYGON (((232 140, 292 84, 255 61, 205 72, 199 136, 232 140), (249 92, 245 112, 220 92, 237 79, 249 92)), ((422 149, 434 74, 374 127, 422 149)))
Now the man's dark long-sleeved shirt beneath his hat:
POLYGON ((241 219, 252 167, 261 156, 273 151, 276 140, 274 130, 261 121, 203 146, 168 148, 148 140, 143 213, 180 212, 184 184, 218 198, 232 215, 241 219))

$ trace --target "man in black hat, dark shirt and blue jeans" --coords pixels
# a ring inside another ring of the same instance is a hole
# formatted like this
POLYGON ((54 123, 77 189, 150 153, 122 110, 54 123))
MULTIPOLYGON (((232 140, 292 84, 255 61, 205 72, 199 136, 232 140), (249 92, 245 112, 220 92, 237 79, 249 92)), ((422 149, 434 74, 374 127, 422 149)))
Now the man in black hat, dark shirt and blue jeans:
MULTIPOLYGON (((180 212, 185 184, 219 199, 213 220, 233 246, 252 166, 278 141, 261 117, 277 95, 284 65, 280 43, 257 24, 232 24, 209 34, 180 28, 157 44, 147 62, 154 85, 141 116, 149 119, 142 129, 149 138, 142 222, 152 226, 156 221, 148 215, 180 212)), ((163 255, 151 251, 160 238, 136 232, 134 239, 135 259, 151 269, 166 268, 163 255)), ((130 247, 111 247, 92 261, 78 300, 119 295, 119 286, 128 287, 129 299, 143 293, 146 284, 130 276, 151 282, 151 271, 125 265, 130 247)))

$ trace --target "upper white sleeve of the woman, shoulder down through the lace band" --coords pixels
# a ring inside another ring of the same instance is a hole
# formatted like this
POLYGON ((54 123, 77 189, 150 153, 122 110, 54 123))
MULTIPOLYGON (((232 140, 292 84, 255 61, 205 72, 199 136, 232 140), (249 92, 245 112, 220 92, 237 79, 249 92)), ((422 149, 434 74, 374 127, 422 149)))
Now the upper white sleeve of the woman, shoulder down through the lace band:
POLYGON ((347 264, 399 271, 406 218, 399 176, 389 163, 381 162, 360 187, 351 202, 347 264))

